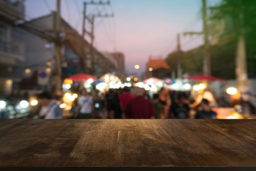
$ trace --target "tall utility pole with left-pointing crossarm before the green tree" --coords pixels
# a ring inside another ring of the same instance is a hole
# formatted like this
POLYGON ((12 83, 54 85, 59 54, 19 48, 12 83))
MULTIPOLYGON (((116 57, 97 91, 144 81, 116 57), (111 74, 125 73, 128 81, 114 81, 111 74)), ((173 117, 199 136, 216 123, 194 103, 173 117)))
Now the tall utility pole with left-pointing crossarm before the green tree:
POLYGON ((210 68, 210 49, 209 49, 209 30, 207 24, 207 0, 202 0, 202 19, 203 19, 203 32, 186 32, 184 35, 204 35, 204 58, 203 58, 203 71, 204 75, 211 75, 210 68))

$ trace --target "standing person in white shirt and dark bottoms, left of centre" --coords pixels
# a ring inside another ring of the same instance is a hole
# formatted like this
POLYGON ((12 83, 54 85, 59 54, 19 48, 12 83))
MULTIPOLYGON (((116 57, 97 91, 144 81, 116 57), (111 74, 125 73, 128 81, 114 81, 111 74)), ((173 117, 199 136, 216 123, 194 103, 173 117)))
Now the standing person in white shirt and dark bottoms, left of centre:
POLYGON ((91 119, 93 113, 93 98, 82 89, 82 95, 78 98, 78 119, 91 119))

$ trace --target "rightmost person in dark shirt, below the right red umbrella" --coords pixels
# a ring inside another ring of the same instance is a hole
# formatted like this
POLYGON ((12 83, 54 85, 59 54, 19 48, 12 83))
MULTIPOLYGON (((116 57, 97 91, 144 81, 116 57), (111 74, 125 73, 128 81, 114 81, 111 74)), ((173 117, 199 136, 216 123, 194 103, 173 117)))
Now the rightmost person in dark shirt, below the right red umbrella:
POLYGON ((211 110, 207 99, 202 100, 196 112, 195 119, 217 119, 217 114, 211 110))

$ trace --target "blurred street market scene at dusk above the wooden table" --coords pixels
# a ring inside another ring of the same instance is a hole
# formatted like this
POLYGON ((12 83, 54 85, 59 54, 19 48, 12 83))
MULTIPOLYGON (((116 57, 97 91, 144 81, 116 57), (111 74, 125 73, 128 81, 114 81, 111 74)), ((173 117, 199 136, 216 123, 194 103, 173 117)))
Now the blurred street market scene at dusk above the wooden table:
POLYGON ((255 29, 255 0, 0 0, 0 118, 256 118, 255 29))

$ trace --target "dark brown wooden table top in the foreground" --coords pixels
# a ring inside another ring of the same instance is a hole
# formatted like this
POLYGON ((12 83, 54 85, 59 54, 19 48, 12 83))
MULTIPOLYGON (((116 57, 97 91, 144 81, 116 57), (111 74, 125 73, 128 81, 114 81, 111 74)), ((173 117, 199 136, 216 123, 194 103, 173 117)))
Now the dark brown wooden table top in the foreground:
POLYGON ((0 121, 0 167, 241 166, 256 120, 0 121))

